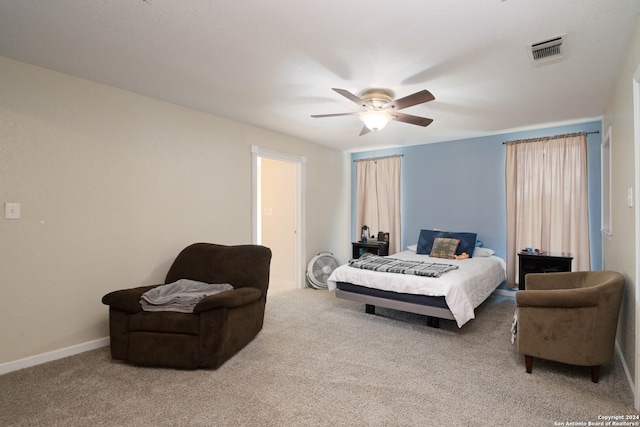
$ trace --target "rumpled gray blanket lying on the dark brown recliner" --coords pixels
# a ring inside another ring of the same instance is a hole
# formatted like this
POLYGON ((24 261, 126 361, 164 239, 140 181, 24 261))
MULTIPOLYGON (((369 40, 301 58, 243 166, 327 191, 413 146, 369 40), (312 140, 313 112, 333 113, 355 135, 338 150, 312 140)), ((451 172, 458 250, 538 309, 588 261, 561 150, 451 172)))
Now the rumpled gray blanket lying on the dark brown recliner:
POLYGON ((230 290, 233 290, 233 286, 228 283, 211 284, 180 279, 145 292, 140 297, 140 305, 144 311, 193 313, 196 304, 204 297, 230 290))

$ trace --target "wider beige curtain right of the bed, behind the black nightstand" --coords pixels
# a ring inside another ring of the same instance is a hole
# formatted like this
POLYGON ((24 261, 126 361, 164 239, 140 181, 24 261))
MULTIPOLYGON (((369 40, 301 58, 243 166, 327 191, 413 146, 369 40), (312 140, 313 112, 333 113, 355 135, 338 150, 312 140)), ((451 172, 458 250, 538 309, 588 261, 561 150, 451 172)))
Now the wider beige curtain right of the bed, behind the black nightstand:
POLYGON ((507 143, 507 282, 525 247, 570 253, 590 270, 586 133, 507 143))

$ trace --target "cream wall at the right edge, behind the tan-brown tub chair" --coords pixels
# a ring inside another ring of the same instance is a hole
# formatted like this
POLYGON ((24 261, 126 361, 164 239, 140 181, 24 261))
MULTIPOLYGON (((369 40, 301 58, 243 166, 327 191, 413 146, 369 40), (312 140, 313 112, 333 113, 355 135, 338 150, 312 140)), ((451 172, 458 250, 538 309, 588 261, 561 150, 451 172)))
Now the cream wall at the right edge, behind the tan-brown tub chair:
MULTIPOLYGON (((627 207, 627 189, 634 187, 634 125, 632 80, 640 65, 640 21, 631 38, 628 54, 616 81, 607 106, 603 130, 611 126, 611 203, 612 236, 603 240, 605 269, 619 271, 625 276, 626 290, 618 324, 618 344, 625 363, 635 378, 635 209, 627 207)), ((612 64, 613 65, 613 64, 612 64)))

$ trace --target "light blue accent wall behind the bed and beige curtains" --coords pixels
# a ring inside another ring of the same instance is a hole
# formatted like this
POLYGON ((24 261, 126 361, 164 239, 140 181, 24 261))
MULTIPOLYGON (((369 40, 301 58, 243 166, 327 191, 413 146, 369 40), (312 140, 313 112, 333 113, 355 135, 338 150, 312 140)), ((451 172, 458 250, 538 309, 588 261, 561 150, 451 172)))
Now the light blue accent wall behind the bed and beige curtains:
MULTIPOLYGON (((506 146, 503 142, 573 132, 588 135, 591 268, 602 268, 600 237, 601 121, 481 138, 353 153, 352 160, 402 154, 402 248, 415 244, 423 228, 471 231, 506 259, 506 146)), ((425 132, 428 132, 427 128, 425 132)), ((356 173, 351 173, 351 235, 356 235, 356 173)), ((380 230, 371 230, 377 233, 380 230)), ((382 230, 386 231, 386 230, 382 230)), ((544 248, 542 248, 544 249, 544 248)))

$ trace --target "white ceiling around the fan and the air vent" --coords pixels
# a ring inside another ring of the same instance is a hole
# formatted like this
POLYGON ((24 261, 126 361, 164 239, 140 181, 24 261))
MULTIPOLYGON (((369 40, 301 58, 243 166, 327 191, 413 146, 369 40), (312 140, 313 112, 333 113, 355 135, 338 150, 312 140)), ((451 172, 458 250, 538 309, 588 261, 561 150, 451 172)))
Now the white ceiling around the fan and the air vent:
POLYGON ((638 0, 0 0, 0 56, 347 151, 602 116, 638 0), (562 62, 527 46, 566 33, 562 62), (436 99, 358 136, 331 88, 436 99))

